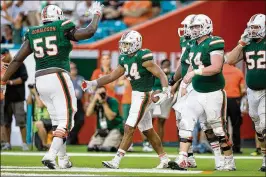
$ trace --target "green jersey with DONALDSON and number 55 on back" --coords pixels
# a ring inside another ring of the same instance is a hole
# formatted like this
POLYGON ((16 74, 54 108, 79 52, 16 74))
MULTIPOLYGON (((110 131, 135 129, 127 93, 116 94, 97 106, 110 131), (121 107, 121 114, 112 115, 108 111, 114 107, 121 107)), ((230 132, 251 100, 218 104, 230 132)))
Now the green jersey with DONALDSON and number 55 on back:
POLYGON ((25 39, 29 40, 34 53, 36 71, 49 68, 70 71, 72 44, 65 32, 72 28, 75 25, 70 20, 59 20, 28 29, 25 39))

